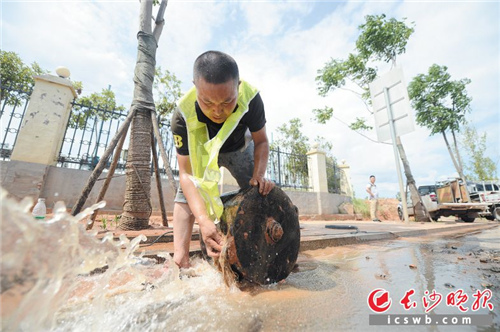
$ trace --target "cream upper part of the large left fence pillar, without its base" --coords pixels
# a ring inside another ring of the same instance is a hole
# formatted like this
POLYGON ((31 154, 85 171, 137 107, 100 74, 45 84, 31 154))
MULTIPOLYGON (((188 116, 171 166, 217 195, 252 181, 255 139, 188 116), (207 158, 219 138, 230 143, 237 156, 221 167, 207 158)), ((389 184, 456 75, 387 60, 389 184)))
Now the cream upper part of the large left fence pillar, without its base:
POLYGON ((77 95, 68 79, 53 75, 34 76, 34 79, 35 86, 10 159, 55 166, 71 102, 77 95))

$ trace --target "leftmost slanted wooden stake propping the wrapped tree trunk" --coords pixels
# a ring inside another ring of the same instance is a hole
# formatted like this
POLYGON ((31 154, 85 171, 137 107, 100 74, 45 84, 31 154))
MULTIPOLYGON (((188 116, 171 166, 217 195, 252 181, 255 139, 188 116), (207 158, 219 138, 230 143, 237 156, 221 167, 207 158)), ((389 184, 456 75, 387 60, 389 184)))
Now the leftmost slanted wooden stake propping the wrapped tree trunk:
POLYGON ((136 111, 136 107, 133 106, 130 109, 130 111, 128 112, 128 115, 125 118, 125 121, 122 123, 122 125, 120 126, 120 128, 116 132, 115 137, 113 137, 113 139, 109 143, 108 147, 106 148, 106 151, 104 151, 104 154, 101 157, 101 159, 99 160, 99 162, 97 163, 96 168, 94 168, 94 171, 92 172, 89 179, 87 180, 87 184, 83 188, 83 191, 80 194, 78 201, 73 206, 73 210, 71 211, 72 215, 75 216, 82 210, 82 207, 85 204, 85 202, 87 201, 87 198, 89 197, 89 194, 92 191, 92 188, 94 187, 95 182, 97 181, 97 179, 101 175, 102 171, 106 167, 106 163, 108 162, 108 159, 109 159, 109 156, 111 155, 111 152, 113 152, 113 150, 115 149, 116 144, 118 143, 118 140, 120 139, 120 137, 128 129, 128 126, 130 125, 130 122, 132 121, 132 118, 134 117, 135 111, 136 111))

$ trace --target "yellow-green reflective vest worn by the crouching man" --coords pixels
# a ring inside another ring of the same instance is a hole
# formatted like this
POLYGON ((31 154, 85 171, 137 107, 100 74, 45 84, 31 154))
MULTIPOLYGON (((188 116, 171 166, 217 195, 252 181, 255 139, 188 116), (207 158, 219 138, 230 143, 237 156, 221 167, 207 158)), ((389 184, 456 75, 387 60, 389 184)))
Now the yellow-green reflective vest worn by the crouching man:
POLYGON ((189 160, 193 171, 190 179, 194 182, 205 201, 208 215, 214 221, 219 220, 224 211, 218 187, 221 177, 218 164, 219 151, 243 115, 248 112, 248 105, 258 92, 256 88, 247 82, 240 82, 238 87, 238 107, 226 119, 222 128, 212 139, 209 139, 207 125, 198 121, 196 115, 196 88, 191 88, 179 101, 178 106, 186 120, 187 127, 189 160))

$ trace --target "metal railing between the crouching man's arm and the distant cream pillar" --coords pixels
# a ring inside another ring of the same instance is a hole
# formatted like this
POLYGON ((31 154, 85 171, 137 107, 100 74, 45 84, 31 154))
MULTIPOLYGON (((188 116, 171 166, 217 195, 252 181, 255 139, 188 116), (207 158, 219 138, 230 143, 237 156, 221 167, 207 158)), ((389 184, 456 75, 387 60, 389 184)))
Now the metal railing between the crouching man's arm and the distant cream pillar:
POLYGON ((309 190, 309 172, 307 156, 281 151, 279 148, 269 151, 267 174, 278 186, 309 190))

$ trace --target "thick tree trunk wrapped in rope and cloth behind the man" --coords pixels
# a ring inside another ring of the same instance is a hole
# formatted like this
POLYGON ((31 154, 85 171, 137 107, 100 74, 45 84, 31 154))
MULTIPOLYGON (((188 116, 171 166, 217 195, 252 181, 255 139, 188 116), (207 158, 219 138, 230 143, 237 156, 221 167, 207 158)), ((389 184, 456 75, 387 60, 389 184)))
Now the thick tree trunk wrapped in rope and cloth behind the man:
POLYGON ((141 1, 140 31, 137 34, 137 62, 134 71, 134 98, 136 114, 130 131, 129 154, 126 165, 125 202, 119 228, 140 230, 149 227, 151 208, 151 113, 155 111, 153 81, 156 49, 164 25, 163 15, 167 1, 160 4, 154 30, 152 28, 153 1, 141 1))

